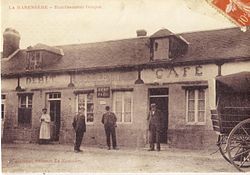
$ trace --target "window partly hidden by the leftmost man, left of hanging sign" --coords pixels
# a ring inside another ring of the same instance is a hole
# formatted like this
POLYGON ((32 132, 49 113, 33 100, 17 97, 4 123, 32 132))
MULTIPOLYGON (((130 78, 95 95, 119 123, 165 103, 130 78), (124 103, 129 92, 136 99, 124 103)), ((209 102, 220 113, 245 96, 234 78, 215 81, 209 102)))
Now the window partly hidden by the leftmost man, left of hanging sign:
POLYGON ((94 93, 77 94, 77 112, 81 107, 85 109, 86 123, 94 122, 94 93))

